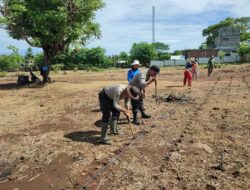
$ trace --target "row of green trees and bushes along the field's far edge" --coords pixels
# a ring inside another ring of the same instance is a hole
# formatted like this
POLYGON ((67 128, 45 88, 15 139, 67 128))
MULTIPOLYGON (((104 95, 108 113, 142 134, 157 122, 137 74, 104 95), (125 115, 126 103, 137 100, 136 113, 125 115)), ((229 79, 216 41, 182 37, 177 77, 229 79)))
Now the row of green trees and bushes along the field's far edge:
MULTIPOLYGON (((16 70, 38 70, 44 65, 44 54, 34 54, 28 48, 25 55, 21 56, 14 46, 8 47, 12 50, 10 55, 0 55, 0 71, 16 70)), ((57 65, 62 70, 85 70, 89 67, 108 68, 114 66, 130 67, 134 59, 138 59, 142 65, 148 66, 152 59, 166 60, 170 58, 167 52, 160 52, 154 44, 147 42, 134 43, 129 53, 121 52, 119 55, 107 56, 105 49, 95 48, 72 48, 57 54, 51 59, 51 68, 57 65), (125 61, 126 64, 117 65, 118 61, 125 61)))

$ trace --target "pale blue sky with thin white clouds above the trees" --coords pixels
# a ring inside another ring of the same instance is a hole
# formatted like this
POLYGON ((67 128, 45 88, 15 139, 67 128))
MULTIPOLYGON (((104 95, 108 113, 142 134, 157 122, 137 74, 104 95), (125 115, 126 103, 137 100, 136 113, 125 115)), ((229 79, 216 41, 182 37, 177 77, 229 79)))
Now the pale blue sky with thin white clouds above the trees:
MULTIPOLYGON (((96 14, 102 38, 88 47, 100 46, 107 55, 129 52, 133 43, 152 42, 152 6, 155 6, 155 41, 174 50, 198 48, 205 41, 202 30, 227 17, 250 16, 249 0, 104 0, 96 14)), ((11 39, 0 29, 0 54, 8 45, 24 53, 24 41, 11 39)), ((38 51, 36 49, 35 51, 38 51)))

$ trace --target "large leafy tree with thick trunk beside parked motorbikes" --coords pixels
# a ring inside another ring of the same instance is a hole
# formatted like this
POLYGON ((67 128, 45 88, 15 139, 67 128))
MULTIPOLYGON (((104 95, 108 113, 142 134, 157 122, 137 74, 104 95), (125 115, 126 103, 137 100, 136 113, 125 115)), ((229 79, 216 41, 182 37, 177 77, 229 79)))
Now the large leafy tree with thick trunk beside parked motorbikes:
MULTIPOLYGON (((65 51, 72 42, 85 45, 100 37, 93 22, 102 0, 0 0, 0 25, 14 39, 41 47, 44 64, 50 68, 52 58, 65 51)), ((43 80, 48 81, 49 70, 43 80)))

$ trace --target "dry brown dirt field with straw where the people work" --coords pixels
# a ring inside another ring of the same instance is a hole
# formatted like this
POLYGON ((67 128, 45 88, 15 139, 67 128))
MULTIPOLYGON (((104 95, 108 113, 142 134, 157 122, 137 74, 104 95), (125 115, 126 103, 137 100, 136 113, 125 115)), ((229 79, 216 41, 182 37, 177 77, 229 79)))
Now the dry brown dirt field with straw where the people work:
POLYGON ((97 94, 126 84, 127 70, 52 74, 54 83, 17 88, 0 79, 0 190, 250 189, 250 65, 215 69, 183 87, 183 70, 164 68, 158 101, 132 139, 98 145, 97 94), (100 174, 100 175, 99 175, 100 174), (96 177, 96 178, 95 178, 96 177))

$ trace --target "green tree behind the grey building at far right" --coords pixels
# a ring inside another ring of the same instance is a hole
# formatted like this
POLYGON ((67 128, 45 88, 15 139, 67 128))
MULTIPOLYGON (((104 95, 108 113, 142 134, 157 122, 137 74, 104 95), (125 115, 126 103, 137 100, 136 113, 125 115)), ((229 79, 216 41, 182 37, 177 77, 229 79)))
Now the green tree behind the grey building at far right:
POLYGON ((223 27, 238 27, 240 28, 241 38, 248 33, 250 29, 250 17, 241 18, 226 18, 225 20, 209 26, 202 31, 203 37, 207 37, 206 44, 208 48, 214 48, 215 38, 219 34, 219 29, 223 27))

